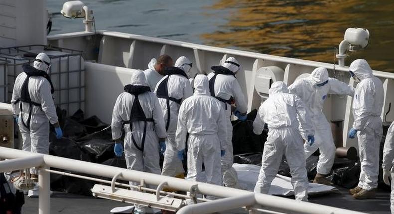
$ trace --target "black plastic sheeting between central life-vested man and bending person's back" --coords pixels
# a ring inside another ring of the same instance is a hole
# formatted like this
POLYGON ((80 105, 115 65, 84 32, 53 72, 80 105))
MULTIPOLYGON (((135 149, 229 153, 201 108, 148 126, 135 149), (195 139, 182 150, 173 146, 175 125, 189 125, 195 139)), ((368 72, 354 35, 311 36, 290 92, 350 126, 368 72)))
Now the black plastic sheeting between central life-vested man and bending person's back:
POLYGON ((234 155, 262 152, 264 143, 267 140, 268 129, 264 128, 263 133, 256 135, 253 132, 253 121, 256 118, 257 110, 254 109, 247 115, 246 121, 232 121, 232 145, 234 155))

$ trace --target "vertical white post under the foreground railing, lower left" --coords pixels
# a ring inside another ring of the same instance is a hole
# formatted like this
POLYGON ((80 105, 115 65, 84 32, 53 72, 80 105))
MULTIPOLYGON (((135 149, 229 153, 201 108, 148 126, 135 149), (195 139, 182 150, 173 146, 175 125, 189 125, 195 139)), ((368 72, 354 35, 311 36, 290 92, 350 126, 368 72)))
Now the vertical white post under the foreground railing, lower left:
POLYGON ((38 170, 38 214, 50 214, 50 174, 45 169, 38 170))

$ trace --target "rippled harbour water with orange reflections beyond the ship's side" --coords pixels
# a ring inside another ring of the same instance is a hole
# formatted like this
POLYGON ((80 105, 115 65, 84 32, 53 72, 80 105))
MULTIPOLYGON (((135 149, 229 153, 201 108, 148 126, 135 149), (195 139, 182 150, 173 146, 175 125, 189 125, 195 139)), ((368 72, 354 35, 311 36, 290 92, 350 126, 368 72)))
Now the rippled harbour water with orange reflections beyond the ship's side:
MULTIPOLYGON (((59 13, 65 0, 47 0, 51 34, 84 30, 59 13)), ((393 0, 83 0, 97 29, 229 47, 333 63, 348 27, 370 31, 365 58, 394 72, 393 0)))

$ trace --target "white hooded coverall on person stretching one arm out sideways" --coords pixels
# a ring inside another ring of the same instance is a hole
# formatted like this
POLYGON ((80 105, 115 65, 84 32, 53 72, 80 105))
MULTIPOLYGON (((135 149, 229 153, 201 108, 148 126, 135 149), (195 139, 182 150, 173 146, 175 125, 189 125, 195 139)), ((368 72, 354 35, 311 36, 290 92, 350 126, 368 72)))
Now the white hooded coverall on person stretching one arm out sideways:
MULTIPOLYGON (((317 173, 327 175, 334 164, 335 144, 331 134, 331 126, 322 111, 323 104, 328 94, 353 96, 354 88, 335 78, 329 78, 327 69, 319 67, 313 70, 309 77, 299 79, 291 84, 289 90, 304 102, 315 130, 315 143, 312 146, 309 143, 304 144, 305 158, 320 149, 317 173), (327 80, 328 83, 324 86, 316 85, 327 80)), ((300 131, 303 138, 306 139, 304 130, 300 131)))

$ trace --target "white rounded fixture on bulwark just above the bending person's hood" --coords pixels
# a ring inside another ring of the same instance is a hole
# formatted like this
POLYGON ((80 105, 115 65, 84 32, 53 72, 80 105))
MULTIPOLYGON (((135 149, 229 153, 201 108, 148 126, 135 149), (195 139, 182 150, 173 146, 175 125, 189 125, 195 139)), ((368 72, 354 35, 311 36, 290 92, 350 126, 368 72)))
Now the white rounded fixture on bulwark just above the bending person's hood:
POLYGON ((258 69, 254 80, 254 88, 257 93, 263 98, 268 98, 268 90, 271 84, 276 81, 283 81, 284 73, 284 70, 277 66, 267 66, 258 69))

